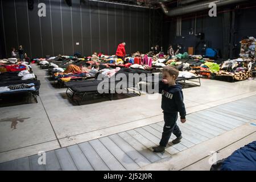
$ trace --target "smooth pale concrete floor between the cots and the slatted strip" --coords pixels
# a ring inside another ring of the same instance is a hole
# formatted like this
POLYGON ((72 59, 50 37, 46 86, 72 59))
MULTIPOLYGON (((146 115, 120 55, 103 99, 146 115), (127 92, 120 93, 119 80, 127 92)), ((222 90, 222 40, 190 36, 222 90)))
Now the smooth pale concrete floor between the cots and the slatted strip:
MULTIPOLYGON (((98 99, 98 102, 94 100, 94 103, 86 102, 78 106, 65 96, 65 89, 53 87, 46 70, 36 65, 32 65, 32 68, 41 82, 39 102, 1 107, 1 119, 26 119, 16 123, 16 129, 11 128, 11 122, 0 123, 0 163, 163 120, 159 94, 154 95, 154 100, 152 95, 148 97, 142 94, 137 97, 118 96, 119 99, 113 101, 98 99)), ((245 80, 229 83, 202 79, 200 87, 186 88, 183 92, 187 113, 195 113, 256 95, 256 82, 245 80)))

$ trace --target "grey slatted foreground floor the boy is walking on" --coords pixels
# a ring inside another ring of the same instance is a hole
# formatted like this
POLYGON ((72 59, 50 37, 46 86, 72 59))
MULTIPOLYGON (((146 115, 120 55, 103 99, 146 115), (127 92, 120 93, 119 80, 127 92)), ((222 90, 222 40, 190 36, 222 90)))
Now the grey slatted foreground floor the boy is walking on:
POLYGON ((180 143, 172 144, 175 138, 172 135, 163 153, 152 152, 152 147, 158 145, 162 136, 162 121, 48 151, 45 165, 38 164, 38 155, 32 155, 0 163, 0 170, 155 170, 158 169, 155 165, 166 161, 168 163, 162 169, 209 170, 213 160, 216 162, 225 158, 236 147, 242 147, 255 139, 256 127, 252 123, 256 119, 256 113, 250 111, 256 110, 255 101, 256 96, 251 96, 188 114, 188 122, 177 123, 183 139, 180 143), (241 128, 242 132, 234 138, 233 134, 241 128), (212 140, 220 141, 223 137, 226 142, 212 145, 212 140), (204 147, 207 143, 210 148, 204 147), (191 148, 195 155, 188 158, 186 152, 191 148), (208 155, 202 158, 201 154, 205 155, 207 152, 208 155), (213 154, 209 155, 210 153, 213 154), (183 166, 175 166, 174 161, 180 158, 183 159, 183 166))

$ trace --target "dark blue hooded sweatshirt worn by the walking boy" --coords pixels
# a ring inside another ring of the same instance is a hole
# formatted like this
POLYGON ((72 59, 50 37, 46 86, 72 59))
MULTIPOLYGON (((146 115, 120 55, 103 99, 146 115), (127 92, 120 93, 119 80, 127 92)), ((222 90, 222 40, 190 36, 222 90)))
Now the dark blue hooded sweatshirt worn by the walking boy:
POLYGON ((185 119, 186 110, 183 103, 182 86, 179 84, 168 86, 159 81, 159 93, 162 94, 162 109, 164 113, 179 112, 180 118, 185 119))

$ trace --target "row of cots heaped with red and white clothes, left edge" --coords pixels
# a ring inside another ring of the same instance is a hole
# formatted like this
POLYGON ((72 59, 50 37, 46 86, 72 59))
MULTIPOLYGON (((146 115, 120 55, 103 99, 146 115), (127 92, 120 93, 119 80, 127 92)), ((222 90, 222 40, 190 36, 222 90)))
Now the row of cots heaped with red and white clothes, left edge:
POLYGON ((31 93, 36 100, 39 96, 40 81, 26 61, 15 58, 0 60, 0 71, 0 97, 31 93))

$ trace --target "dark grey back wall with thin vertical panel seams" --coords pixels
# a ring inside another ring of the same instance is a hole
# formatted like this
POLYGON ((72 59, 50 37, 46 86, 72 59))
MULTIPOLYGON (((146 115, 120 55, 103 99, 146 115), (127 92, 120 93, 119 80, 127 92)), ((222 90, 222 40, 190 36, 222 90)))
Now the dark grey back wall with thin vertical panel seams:
POLYGON ((112 55, 126 42, 126 52, 150 49, 150 11, 140 7, 72 0, 1 0, 0 52, 10 57, 11 47, 22 45, 30 57, 46 55, 84 56, 92 52, 112 55), (38 3, 46 4, 46 17, 39 18, 38 3), (79 42, 79 46, 76 45, 79 42))

